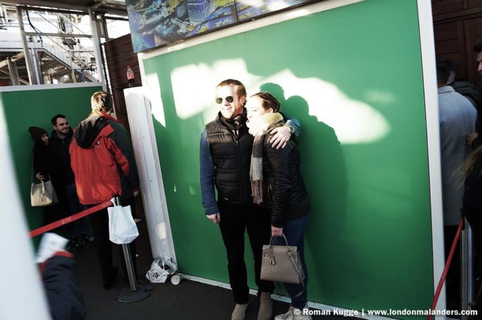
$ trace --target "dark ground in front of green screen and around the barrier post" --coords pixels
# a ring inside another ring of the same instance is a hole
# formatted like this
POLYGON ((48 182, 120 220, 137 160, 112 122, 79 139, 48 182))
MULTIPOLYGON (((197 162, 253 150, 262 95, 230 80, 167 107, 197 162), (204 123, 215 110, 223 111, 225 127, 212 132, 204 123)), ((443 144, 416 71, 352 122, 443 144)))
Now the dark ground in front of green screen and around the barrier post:
MULTIPOLYGON (((147 235, 145 220, 138 222, 139 238, 137 240, 137 266, 139 279, 145 279, 145 272, 152 263, 152 255, 147 235)), ((113 250, 114 265, 119 265, 118 251, 113 250)), ((95 249, 82 249, 75 255, 78 263, 80 287, 84 292, 87 304, 86 320, 144 320, 144 319, 231 319, 234 308, 231 290, 195 281, 183 280, 179 285, 171 283, 153 284, 151 295, 136 303, 120 303, 116 296, 123 288, 128 288, 120 274, 110 290, 103 290, 95 249)), ((250 297, 247 320, 256 320, 259 300, 250 297)), ((274 301, 274 314, 285 312, 287 303, 274 301)), ((321 319, 322 317, 313 317, 321 319)), ((323 317, 323 319, 341 319, 341 317, 323 317)))

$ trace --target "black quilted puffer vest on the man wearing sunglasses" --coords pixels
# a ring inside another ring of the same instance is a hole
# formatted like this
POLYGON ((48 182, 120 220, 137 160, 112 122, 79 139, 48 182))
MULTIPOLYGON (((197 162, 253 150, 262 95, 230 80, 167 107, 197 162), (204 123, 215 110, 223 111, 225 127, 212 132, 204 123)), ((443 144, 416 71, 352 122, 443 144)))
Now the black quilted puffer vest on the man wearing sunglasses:
POLYGON ((215 165, 218 201, 250 204, 252 197, 249 167, 253 137, 248 128, 243 125, 236 139, 218 114, 215 121, 206 125, 206 131, 215 165))

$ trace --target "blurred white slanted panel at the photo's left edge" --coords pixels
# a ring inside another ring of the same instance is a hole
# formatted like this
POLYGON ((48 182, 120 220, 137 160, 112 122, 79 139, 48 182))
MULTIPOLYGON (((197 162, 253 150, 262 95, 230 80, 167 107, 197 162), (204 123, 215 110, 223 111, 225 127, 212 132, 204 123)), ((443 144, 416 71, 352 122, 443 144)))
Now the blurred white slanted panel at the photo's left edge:
POLYGON ((20 202, 1 100, 0 163, 0 319, 50 320, 20 202))

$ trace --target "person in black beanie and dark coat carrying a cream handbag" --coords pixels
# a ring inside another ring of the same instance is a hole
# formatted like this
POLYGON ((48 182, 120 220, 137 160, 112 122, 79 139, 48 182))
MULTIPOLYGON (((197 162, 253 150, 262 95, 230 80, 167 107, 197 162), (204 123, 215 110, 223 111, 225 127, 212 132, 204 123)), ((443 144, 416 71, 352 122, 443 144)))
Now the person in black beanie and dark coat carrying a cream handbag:
MULTIPOLYGON (((41 127, 29 127, 28 132, 34 141, 32 151, 32 166, 35 171, 35 178, 39 181, 52 181, 53 188, 57 193, 61 186, 59 184, 59 177, 55 174, 55 161, 52 157, 50 146, 48 145, 48 134, 41 127)), ((60 204, 53 204, 51 206, 44 206, 44 225, 64 217, 62 207, 60 204)), ((57 232, 58 229, 55 231, 57 232)))

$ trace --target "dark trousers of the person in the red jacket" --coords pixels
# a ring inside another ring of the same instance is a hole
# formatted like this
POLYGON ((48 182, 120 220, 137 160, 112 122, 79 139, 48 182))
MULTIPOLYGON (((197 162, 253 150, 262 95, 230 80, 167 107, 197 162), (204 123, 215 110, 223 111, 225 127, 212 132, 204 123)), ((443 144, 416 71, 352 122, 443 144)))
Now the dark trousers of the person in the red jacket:
MULTIPOLYGON (((121 200, 122 206, 131 206, 131 212, 136 210, 136 201, 134 197, 121 200)), ((112 275, 112 245, 109 240, 109 215, 107 215, 107 208, 102 209, 98 213, 91 215, 91 223, 93 230, 93 243, 96 246, 97 258, 99 260, 100 274, 102 281, 106 282, 111 280, 112 275)), ((134 267, 134 278, 137 278, 137 266, 136 266, 136 245, 135 240, 132 241, 130 246, 132 265, 134 267)), ((125 266, 124 252, 122 245, 115 245, 119 249, 120 266, 122 267, 124 278, 128 281, 127 267, 125 266)))

